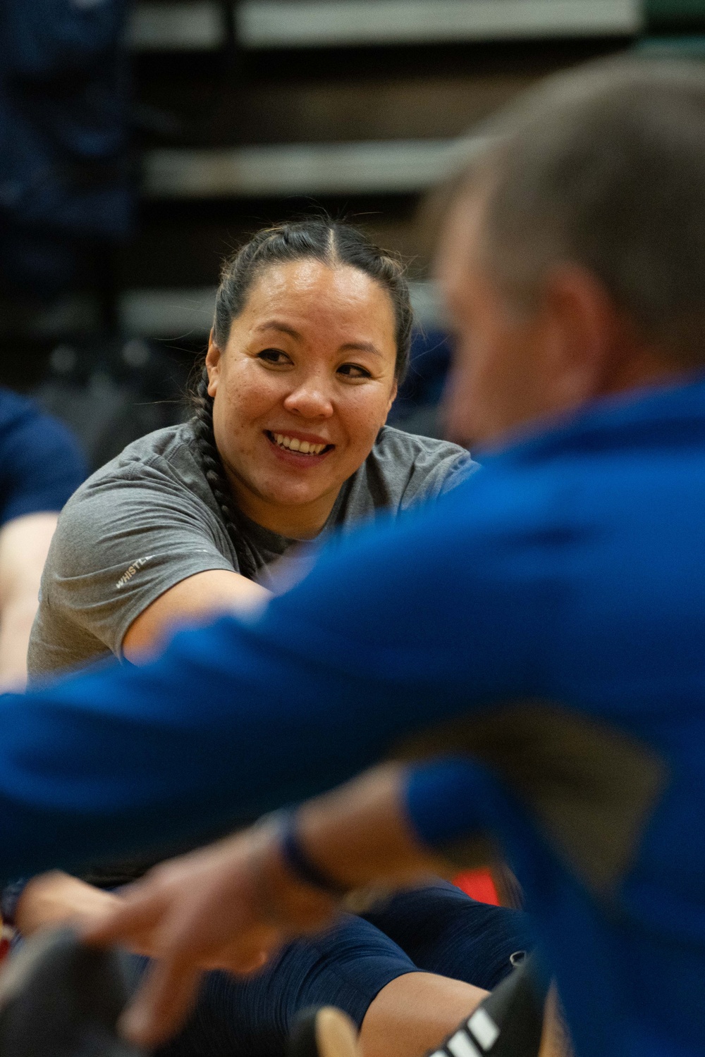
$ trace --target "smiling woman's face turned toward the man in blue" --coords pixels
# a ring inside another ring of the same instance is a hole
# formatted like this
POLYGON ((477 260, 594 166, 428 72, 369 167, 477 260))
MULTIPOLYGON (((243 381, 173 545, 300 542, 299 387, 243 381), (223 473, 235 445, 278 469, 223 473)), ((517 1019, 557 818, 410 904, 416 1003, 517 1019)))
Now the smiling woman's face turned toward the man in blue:
POLYGON ((323 525, 396 395, 387 292, 357 268, 267 267, 208 347, 216 443, 240 508, 295 538, 323 525))

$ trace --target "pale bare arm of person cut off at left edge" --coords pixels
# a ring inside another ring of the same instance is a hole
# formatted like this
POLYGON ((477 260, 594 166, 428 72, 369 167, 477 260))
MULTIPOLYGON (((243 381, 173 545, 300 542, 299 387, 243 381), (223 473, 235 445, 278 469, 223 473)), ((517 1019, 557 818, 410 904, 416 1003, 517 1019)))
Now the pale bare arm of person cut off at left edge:
POLYGON ((58 514, 26 514, 0 530, 0 691, 26 682, 26 649, 58 514))

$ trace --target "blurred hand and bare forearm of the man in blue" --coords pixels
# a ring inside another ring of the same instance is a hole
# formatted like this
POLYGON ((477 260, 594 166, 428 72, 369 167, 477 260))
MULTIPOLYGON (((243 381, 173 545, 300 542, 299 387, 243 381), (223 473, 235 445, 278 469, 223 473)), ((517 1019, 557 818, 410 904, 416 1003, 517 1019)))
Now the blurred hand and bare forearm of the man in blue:
MULTIPOLYGON (((401 764, 385 764, 298 810, 305 855, 340 891, 438 872, 409 828, 404 781, 401 764)), ((286 865, 278 824, 265 819, 151 870, 85 934, 157 960, 123 1024, 129 1038, 153 1046, 188 1013, 204 969, 252 972, 282 943, 331 924, 337 908, 286 865)))

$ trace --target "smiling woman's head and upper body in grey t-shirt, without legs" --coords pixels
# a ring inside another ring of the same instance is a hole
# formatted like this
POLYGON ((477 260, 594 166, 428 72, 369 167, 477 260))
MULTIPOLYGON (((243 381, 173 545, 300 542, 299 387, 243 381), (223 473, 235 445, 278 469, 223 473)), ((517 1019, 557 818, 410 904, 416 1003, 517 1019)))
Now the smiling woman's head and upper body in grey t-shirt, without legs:
POLYGON ((385 426, 411 326, 403 266, 354 228, 251 239, 223 268, 194 416, 130 444, 64 508, 30 679, 138 662, 174 624, 261 604, 286 552, 466 477, 462 448, 385 426))

